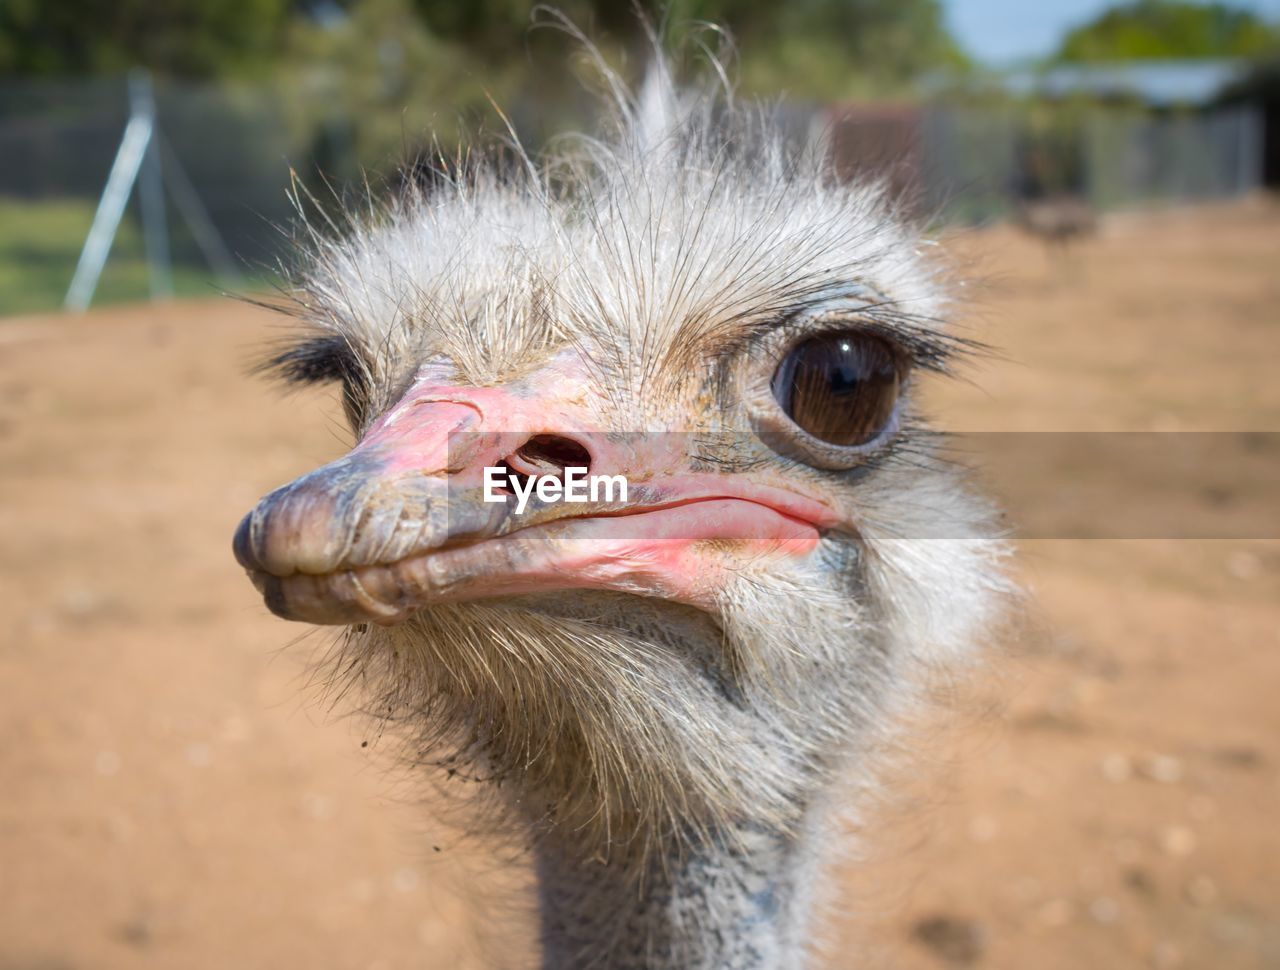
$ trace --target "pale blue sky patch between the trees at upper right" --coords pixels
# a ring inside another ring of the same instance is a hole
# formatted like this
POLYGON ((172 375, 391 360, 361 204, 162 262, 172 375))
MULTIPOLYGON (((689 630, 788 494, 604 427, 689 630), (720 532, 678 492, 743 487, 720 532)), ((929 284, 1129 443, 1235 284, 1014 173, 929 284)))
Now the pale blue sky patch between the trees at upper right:
MULTIPOLYGON (((1093 18, 1115 0, 942 0, 947 22, 965 49, 992 64, 1048 54, 1064 31, 1093 18)), ((1280 0, 1236 0, 1280 19, 1280 0)))

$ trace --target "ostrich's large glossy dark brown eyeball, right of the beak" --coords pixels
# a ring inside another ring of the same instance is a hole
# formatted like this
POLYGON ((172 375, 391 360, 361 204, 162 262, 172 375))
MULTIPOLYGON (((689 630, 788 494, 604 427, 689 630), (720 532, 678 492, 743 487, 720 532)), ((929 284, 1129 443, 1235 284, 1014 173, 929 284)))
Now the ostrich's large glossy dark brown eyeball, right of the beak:
POLYGON ((888 425, 899 383, 899 362, 887 342, 831 334, 787 354, 773 376, 773 397, 814 438, 867 444, 888 425))

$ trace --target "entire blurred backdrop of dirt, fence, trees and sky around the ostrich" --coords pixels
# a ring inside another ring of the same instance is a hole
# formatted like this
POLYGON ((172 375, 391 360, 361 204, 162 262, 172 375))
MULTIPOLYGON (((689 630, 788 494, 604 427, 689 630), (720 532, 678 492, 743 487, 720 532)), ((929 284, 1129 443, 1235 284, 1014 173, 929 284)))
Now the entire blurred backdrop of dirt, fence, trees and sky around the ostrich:
MULTIPOLYGON (((559 6, 641 76, 627 4, 559 6)), ((1028 617, 904 742, 819 965, 1280 967, 1275 493, 1203 447, 1275 480, 1280 0, 641 6, 727 27, 739 90, 943 244, 997 351, 924 388, 943 427, 1160 435, 1210 523, 1083 539, 1065 486, 1138 468, 1130 439, 1005 449, 996 484, 1048 513, 1028 617)), ((532 19, 0 0, 0 970, 529 965, 520 865, 435 825, 310 680, 325 636, 289 645, 232 559, 346 431, 329 392, 247 376, 285 324, 220 293, 279 282, 291 192, 428 179, 493 104, 535 154, 590 125, 532 19)))

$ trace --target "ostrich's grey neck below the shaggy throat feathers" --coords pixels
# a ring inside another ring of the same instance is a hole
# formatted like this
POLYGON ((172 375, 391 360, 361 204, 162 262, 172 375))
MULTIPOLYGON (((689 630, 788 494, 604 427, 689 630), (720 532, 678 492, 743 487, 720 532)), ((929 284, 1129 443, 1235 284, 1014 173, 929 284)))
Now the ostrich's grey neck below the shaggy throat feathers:
POLYGON ((579 970, 772 970, 803 964, 812 852, 744 828, 684 842, 643 868, 535 859, 543 966, 579 970))

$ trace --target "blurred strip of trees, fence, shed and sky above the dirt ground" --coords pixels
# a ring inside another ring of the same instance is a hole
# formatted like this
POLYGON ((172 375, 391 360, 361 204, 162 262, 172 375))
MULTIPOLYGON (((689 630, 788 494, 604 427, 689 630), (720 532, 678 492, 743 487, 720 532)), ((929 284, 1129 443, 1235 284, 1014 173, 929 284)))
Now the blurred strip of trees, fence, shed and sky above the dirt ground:
MULTIPOLYGON (((690 24, 726 26, 742 92, 777 101, 800 137, 829 133, 841 175, 888 173, 928 218, 974 224, 1044 197, 1111 211, 1276 184, 1268 3, 676 0, 664 19, 650 14, 686 37, 690 24)), ((100 303, 269 280, 288 251, 276 228, 294 174, 324 198, 394 180, 452 154, 463 132, 500 131, 490 99, 535 151, 589 124, 572 44, 530 29, 531 8, 6 0, 0 314, 67 297, 125 124, 152 92, 136 201, 104 235, 100 303), (131 99, 131 69, 150 72, 151 91, 136 74, 131 99)), ((648 41, 628 4, 561 9, 640 74, 648 41)))

